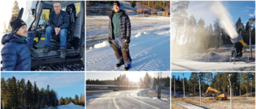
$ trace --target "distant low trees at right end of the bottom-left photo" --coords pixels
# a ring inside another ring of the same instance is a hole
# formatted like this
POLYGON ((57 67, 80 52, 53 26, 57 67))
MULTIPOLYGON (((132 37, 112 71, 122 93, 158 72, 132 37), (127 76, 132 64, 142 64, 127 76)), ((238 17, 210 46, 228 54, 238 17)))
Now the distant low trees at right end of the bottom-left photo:
POLYGON ((67 105, 69 103, 74 103, 76 105, 85 106, 85 95, 80 95, 80 99, 79 99, 78 95, 75 95, 74 99, 72 99, 71 97, 69 97, 69 98, 61 97, 61 99, 59 99, 59 105, 67 105))

